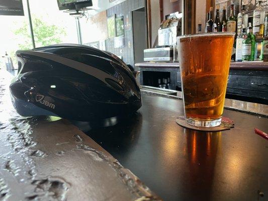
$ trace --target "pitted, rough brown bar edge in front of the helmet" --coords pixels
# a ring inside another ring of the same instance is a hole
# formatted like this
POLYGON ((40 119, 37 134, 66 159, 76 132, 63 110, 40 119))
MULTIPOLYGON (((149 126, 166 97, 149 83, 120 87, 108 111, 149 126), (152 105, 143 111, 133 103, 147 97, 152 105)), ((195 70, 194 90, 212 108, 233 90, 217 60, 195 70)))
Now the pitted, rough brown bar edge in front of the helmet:
POLYGON ((0 72, 0 200, 160 200, 69 121, 19 116, 0 72))

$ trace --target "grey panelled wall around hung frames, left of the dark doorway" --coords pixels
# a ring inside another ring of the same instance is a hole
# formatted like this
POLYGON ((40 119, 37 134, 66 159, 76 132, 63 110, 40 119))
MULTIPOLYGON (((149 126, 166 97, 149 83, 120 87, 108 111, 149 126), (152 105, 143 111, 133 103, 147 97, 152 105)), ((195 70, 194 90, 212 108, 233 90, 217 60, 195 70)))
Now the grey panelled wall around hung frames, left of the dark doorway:
POLYGON ((145 0, 127 0, 115 7, 107 10, 107 17, 116 16, 124 17, 124 32, 125 32, 125 46, 122 48, 114 48, 114 39, 106 40, 106 50, 122 56, 125 63, 134 67, 134 50, 133 50, 133 31, 132 31, 132 11, 145 7, 145 0), (127 23, 130 26, 127 26, 127 23))

